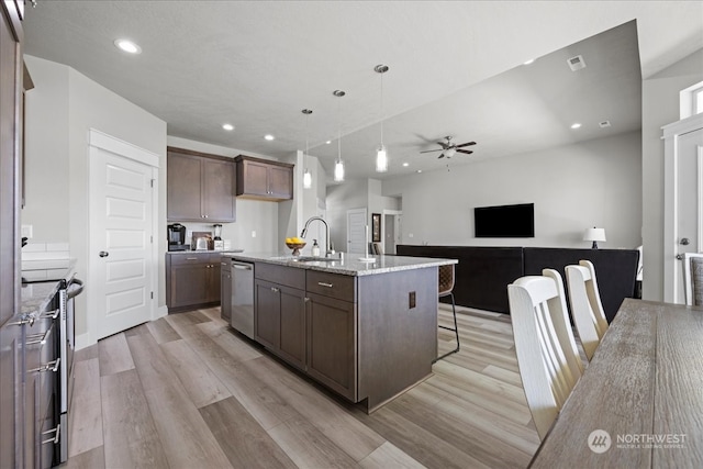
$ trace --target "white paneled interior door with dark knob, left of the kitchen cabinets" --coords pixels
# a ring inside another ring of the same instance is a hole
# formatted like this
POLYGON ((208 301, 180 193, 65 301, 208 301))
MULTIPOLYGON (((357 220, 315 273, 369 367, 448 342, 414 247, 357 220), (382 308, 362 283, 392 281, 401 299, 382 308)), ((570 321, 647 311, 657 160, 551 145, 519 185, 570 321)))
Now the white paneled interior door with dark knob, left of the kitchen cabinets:
MULTIPOLYGON (((109 136, 102 134, 102 141, 109 136)), ((96 338, 149 321, 154 315, 153 154, 120 141, 93 146, 90 166, 89 315, 96 338), (140 156, 140 154, 143 155, 140 156)), ((109 143, 109 142, 108 142, 109 143)), ((90 323, 89 323, 90 327, 90 323)))

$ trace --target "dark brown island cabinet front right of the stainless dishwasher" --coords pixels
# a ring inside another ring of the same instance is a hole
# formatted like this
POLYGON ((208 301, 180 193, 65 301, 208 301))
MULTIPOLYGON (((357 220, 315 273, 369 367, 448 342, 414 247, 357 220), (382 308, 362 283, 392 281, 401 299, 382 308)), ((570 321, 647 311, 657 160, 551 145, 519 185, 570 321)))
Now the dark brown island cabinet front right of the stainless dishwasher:
POLYGON ((355 401, 355 278, 268 264, 255 272, 254 338, 355 401))

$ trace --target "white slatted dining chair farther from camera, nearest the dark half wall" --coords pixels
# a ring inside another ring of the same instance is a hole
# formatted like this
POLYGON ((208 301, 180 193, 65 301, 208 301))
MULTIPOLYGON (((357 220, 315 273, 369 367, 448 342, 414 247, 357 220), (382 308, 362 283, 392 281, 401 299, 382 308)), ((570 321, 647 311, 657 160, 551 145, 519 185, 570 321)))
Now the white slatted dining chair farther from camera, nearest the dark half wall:
POLYGON ((590 260, 581 260, 578 266, 567 266, 566 272, 571 316, 585 358, 591 361, 595 348, 607 331, 607 320, 595 280, 595 267, 590 260))

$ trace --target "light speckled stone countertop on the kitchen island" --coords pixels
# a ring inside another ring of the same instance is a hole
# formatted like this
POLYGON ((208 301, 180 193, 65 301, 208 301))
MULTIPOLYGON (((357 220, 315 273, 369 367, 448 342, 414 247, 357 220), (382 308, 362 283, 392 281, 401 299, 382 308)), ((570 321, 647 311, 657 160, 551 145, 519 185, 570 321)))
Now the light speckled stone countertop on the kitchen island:
MULTIPOLYGON (((339 256, 337 253, 335 256, 339 256)), ((457 264, 457 259, 438 259, 429 257, 411 257, 411 256, 369 256, 375 259, 373 263, 365 263, 359 260, 364 257, 361 254, 344 253, 344 258, 334 260, 327 260, 320 258, 314 260, 310 256, 294 257, 289 255, 281 255, 278 253, 236 253, 225 254, 223 257, 228 257, 234 260, 242 260, 248 263, 267 263, 276 264, 279 266, 298 267, 301 269, 320 270, 324 272, 342 273, 345 276, 370 276, 377 273, 388 273, 400 270, 413 270, 425 267, 438 267, 457 264), (303 260, 301 260, 301 258, 303 260)))

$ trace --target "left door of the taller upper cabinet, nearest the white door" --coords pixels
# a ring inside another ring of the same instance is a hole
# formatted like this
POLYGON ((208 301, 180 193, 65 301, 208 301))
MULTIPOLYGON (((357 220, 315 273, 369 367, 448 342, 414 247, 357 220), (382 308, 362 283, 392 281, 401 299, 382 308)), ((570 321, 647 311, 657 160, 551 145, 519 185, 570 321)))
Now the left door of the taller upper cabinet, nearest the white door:
POLYGON ((169 221, 202 220, 200 159, 168 152, 166 217, 169 221))

